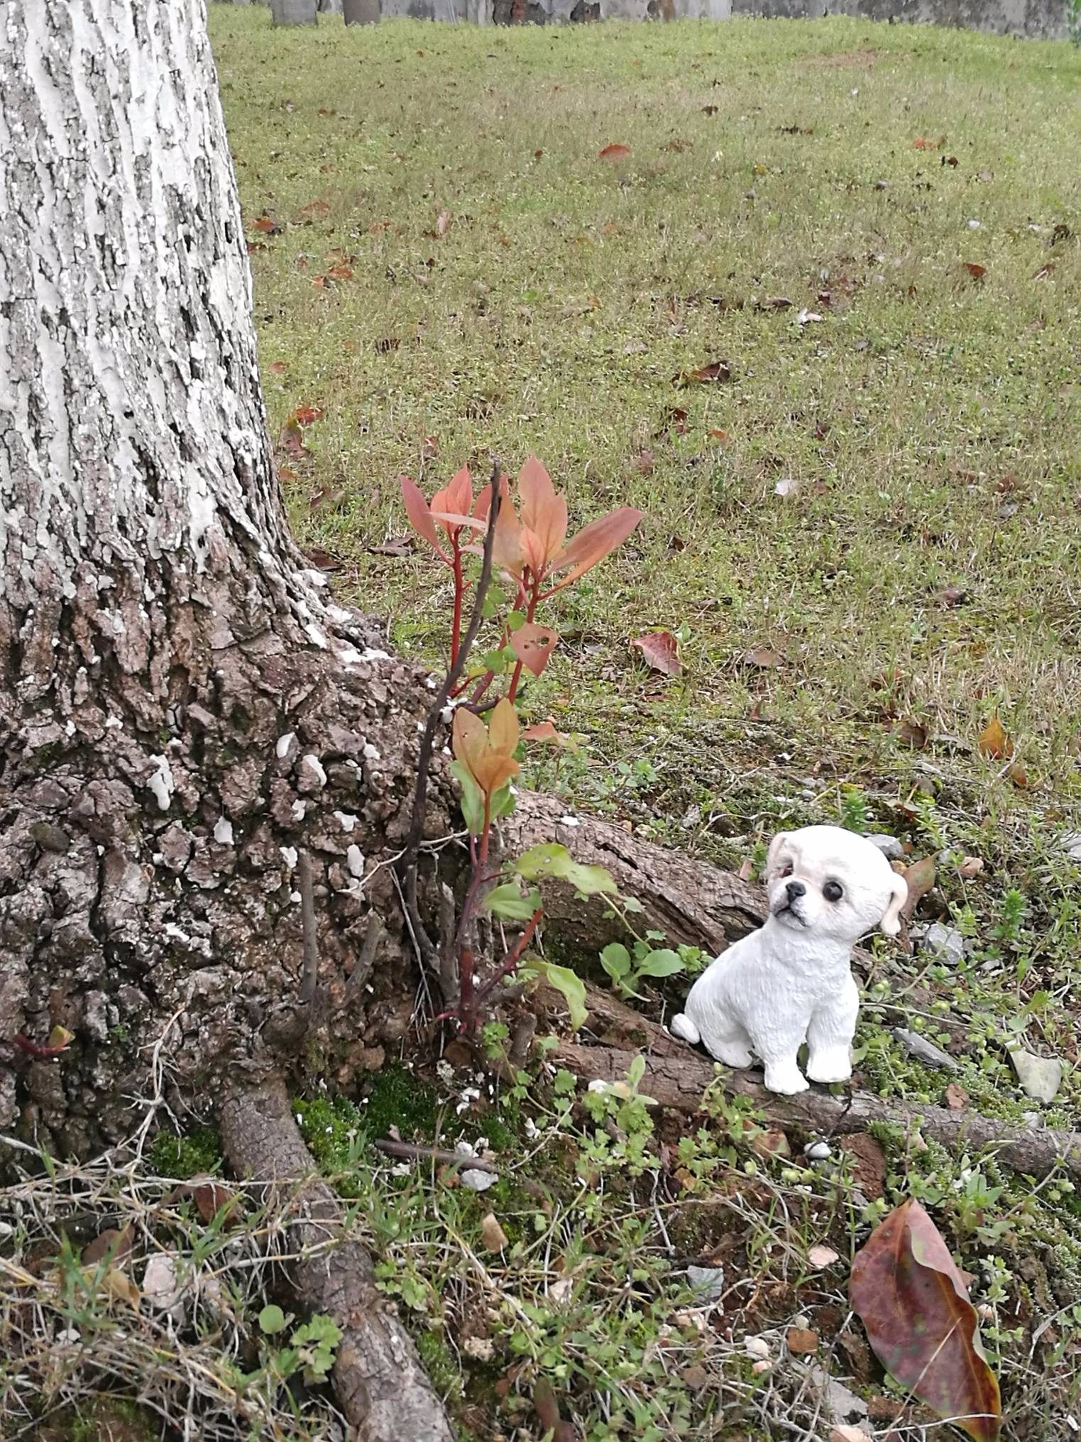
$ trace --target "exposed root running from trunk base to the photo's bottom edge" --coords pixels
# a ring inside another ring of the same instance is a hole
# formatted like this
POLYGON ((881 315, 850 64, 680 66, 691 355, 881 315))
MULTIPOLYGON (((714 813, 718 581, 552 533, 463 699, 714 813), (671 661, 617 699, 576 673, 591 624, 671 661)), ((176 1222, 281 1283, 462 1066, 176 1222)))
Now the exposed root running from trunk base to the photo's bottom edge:
POLYGON ((332 1383, 357 1442, 453 1442, 440 1399, 417 1350, 386 1298, 376 1289, 372 1259, 343 1233, 333 1191, 313 1175, 307 1146, 293 1120, 284 1084, 270 1080, 235 1089, 219 1109, 225 1152, 252 1190, 290 1185, 306 1220, 294 1226, 295 1250, 320 1247, 295 1263, 294 1283, 313 1312, 342 1328, 332 1383))

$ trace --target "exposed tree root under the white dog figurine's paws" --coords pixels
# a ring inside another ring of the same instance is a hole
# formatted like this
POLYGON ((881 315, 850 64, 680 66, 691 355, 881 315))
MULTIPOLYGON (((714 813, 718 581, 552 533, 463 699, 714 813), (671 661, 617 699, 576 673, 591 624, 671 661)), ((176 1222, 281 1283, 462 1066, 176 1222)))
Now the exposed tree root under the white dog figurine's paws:
MULTIPOLYGON (((662 1106, 698 1110, 702 1093, 719 1080, 729 1096, 748 1096, 775 1126, 797 1135, 845 1136, 865 1132, 872 1122, 886 1122, 921 1133, 944 1146, 970 1151, 992 1148, 1000 1162, 1026 1177, 1046 1177, 1061 1167, 1081 1181, 1081 1133, 1041 1126, 1010 1126, 979 1112, 951 1112, 943 1106, 905 1106, 868 1092, 833 1096, 811 1087, 800 1096, 775 1096, 749 1071, 718 1069, 699 1051, 670 1037, 663 1027, 631 1011, 611 995, 590 986, 591 1025, 614 1045, 561 1041, 552 1060, 587 1080, 618 1082, 636 1056, 646 1056, 640 1090, 662 1106), (628 1045, 630 1043, 630 1045, 628 1045), (631 1050, 631 1047, 634 1050, 631 1050)), ((542 992, 540 1005, 559 1004, 558 994, 542 992)))

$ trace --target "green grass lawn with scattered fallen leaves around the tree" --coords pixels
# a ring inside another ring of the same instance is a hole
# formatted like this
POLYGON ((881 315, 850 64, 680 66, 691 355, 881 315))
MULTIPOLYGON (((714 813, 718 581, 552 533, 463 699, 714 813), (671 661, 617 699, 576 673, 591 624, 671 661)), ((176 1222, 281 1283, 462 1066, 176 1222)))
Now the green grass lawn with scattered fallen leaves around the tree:
MULTIPOLYGON (((535 783, 731 867, 813 820, 934 858, 921 916, 967 952, 879 946, 862 1084, 1081 1129, 1064 839, 1081 831, 1081 52, 840 19, 272 32, 261 6, 213 6, 212 32, 271 425, 321 411, 283 444, 283 479, 339 594, 438 662, 444 575, 386 545, 406 532, 402 472, 430 495, 463 461, 486 476, 535 451, 574 522, 644 509, 556 603, 562 643, 525 711, 582 750, 532 763, 535 783), (630 154, 600 159, 610 144, 630 154), (713 362, 724 379, 673 382, 713 362), (636 659, 654 627, 679 636, 682 675, 636 659), (1012 754, 979 744, 996 715, 1012 754), (898 1025, 957 1070, 914 1060, 898 1025), (1049 1106, 1018 1087, 1018 1038, 1064 1063, 1049 1106)), ((471 1073, 408 1064, 357 1105, 298 1106, 464 1439, 551 1438, 551 1386, 587 1442, 819 1442, 820 1367, 869 1405, 868 1435, 946 1442, 848 1306, 853 1250, 907 1195, 970 1275, 1003 1436, 1081 1425, 1065 1178, 915 1128, 810 1164, 724 1100, 688 1131, 633 1097, 585 1115, 566 1074, 489 1102, 471 1073), (398 1175, 369 1146, 391 1126, 486 1136, 499 1184, 398 1175)), ((157 1161, 199 1171, 213 1139, 157 1161)), ((223 1272, 228 1247, 265 1252, 199 1226, 184 1247, 223 1272)), ((254 1321, 267 1276, 229 1275, 248 1420, 333 1436, 290 1416, 254 1321)), ((228 1438, 233 1332, 208 1318, 186 1376, 200 1435, 228 1438)), ((108 1355, 133 1392, 156 1374, 108 1355)))

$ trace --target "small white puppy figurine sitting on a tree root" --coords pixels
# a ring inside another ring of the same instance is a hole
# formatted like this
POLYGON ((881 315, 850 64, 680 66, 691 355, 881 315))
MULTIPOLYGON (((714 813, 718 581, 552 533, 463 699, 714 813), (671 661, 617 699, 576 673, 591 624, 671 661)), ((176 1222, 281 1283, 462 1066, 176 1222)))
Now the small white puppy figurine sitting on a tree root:
POLYGON ((859 1012, 852 946, 879 924, 897 936, 908 888, 878 846, 840 826, 774 836, 765 881, 765 926, 709 965, 672 1032, 728 1067, 749 1067, 754 1053, 767 1089, 783 1096, 807 1090, 796 1063, 804 1040, 811 1082, 848 1082, 859 1012))

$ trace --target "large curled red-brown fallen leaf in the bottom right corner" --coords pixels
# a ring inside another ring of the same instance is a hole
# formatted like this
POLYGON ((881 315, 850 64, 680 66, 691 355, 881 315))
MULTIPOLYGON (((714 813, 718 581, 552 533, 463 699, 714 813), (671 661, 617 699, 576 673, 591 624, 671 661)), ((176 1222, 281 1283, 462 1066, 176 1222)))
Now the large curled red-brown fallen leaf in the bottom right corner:
POLYGON ((999 1383, 980 1344, 976 1311, 934 1221, 908 1198, 852 1263, 853 1311, 882 1366, 976 1442, 996 1442, 999 1383))

